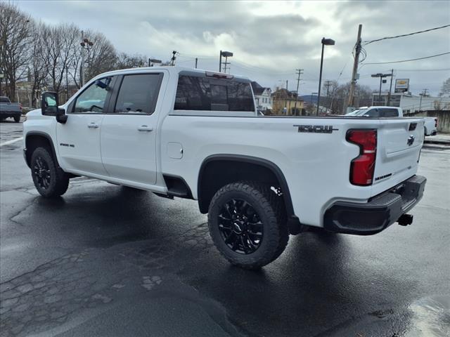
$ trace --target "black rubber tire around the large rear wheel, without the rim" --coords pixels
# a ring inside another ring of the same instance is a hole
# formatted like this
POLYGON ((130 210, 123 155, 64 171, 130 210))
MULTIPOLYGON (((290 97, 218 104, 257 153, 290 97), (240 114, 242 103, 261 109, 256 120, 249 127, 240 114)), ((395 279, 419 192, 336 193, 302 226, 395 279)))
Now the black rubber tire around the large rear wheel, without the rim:
POLYGON ((222 256, 238 267, 255 270, 271 263, 283 253, 289 240, 283 198, 269 185, 241 181, 221 187, 214 194, 208 211, 208 226, 215 246, 222 256), (221 236, 219 213, 230 199, 243 199, 252 205, 263 223, 263 237, 256 251, 243 254, 233 251, 221 236))

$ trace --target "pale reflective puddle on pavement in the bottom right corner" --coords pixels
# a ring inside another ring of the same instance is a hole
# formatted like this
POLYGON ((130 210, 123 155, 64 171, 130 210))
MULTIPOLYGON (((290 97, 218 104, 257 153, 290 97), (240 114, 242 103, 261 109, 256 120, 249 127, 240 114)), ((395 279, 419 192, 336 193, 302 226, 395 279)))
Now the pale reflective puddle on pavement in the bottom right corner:
POLYGON ((411 303, 411 327, 405 337, 450 336, 450 296, 430 296, 411 303))

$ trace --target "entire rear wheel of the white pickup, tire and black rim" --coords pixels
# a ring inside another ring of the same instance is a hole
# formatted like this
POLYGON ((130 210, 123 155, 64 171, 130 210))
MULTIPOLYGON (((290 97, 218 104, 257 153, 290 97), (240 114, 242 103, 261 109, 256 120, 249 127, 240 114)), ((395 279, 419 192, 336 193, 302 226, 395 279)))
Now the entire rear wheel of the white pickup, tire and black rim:
POLYGON ((214 194, 208 227, 219 253, 251 270, 278 258, 289 239, 283 200, 270 185, 252 181, 229 183, 214 194))

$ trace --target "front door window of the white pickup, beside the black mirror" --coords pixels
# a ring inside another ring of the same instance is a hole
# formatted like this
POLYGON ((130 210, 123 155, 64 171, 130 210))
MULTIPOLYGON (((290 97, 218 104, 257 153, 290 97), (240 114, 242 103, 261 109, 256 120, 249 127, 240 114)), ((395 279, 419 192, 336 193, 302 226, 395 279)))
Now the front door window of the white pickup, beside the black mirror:
POLYGON ((103 112, 111 77, 100 79, 84 90, 75 102, 73 112, 103 112))

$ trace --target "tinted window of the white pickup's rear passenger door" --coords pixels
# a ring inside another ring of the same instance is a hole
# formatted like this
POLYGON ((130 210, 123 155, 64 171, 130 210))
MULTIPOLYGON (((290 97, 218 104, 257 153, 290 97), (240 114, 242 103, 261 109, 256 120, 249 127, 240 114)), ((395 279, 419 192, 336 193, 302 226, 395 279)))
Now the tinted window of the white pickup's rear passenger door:
POLYGON ((162 74, 125 75, 120 85, 114 112, 153 114, 162 74))

